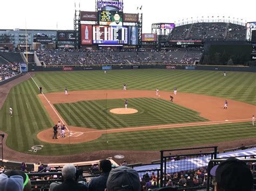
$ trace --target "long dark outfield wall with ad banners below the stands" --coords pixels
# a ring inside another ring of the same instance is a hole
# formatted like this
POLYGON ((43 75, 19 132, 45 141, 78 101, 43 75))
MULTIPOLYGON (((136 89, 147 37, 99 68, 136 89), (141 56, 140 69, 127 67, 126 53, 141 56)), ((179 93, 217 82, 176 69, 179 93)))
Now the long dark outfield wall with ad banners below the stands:
POLYGON ((205 66, 205 65, 162 65, 162 64, 140 64, 140 65, 87 65, 87 66, 36 66, 29 65, 29 72, 49 71, 73 71, 73 70, 109 70, 109 69, 187 69, 187 70, 220 70, 233 72, 256 72, 256 67, 251 66, 205 66), (108 66, 108 67, 107 67, 108 66), (107 68, 105 68, 107 67, 107 68))

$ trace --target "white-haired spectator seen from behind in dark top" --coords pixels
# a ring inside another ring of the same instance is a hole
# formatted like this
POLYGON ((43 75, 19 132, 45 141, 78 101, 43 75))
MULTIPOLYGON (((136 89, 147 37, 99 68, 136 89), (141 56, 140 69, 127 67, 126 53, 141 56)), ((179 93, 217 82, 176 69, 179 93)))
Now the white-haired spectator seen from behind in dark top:
POLYGON ((88 187, 83 185, 82 183, 78 183, 75 181, 76 178, 76 167, 72 164, 66 164, 62 168, 62 177, 64 181, 60 184, 55 186, 52 190, 53 191, 65 191, 65 190, 83 190, 87 191, 88 187))

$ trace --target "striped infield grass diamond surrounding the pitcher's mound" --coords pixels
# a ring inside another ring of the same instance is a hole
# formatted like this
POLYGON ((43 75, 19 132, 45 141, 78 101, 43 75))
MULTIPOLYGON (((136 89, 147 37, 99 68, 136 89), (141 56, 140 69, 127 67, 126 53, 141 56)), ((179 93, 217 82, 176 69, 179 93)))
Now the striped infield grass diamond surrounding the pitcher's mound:
POLYGON ((110 109, 124 108, 124 101, 83 101, 55 104, 55 108, 69 125, 98 130, 207 121, 196 111, 157 98, 129 98, 128 108, 137 109, 136 114, 109 112, 110 109))

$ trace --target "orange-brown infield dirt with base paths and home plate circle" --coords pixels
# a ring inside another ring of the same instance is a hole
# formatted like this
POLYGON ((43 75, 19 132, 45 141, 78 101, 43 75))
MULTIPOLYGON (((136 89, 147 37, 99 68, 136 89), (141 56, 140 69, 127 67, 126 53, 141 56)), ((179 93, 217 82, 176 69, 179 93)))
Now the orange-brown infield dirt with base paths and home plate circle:
MULTIPOLYGON (((48 143, 59 144, 75 144, 89 142, 97 139, 104 133, 125 132, 125 131, 143 131, 149 129, 164 129, 164 128, 177 128, 182 126, 197 126, 197 125, 214 125, 225 123, 237 123, 251 121, 251 116, 254 114, 255 105, 228 100, 228 109, 224 108, 225 98, 212 97, 206 95, 196 95, 188 93, 178 93, 173 95, 172 92, 161 91, 160 96, 156 96, 155 91, 146 90, 88 90, 88 91, 69 91, 69 95, 61 93, 45 94, 48 101, 43 95, 38 95, 41 98, 46 110, 48 111, 53 122, 58 122, 60 114, 55 109, 53 110, 53 103, 72 103, 86 100, 104 100, 104 99, 117 99, 117 98, 137 98, 137 97, 152 97, 170 101, 172 95, 173 103, 179 104, 183 107, 192 109, 200 113, 210 122, 187 123, 187 124, 171 124, 171 125, 156 125, 144 127, 132 127, 123 129, 111 130, 95 130, 86 128, 79 128, 75 126, 68 126, 69 132, 66 133, 66 138, 52 139, 53 130, 49 128, 38 133, 37 138, 48 143)), ((62 118, 62 121, 64 119, 62 118)), ((65 121, 64 121, 65 122, 65 121)), ((66 124, 66 122, 65 122, 66 124)))

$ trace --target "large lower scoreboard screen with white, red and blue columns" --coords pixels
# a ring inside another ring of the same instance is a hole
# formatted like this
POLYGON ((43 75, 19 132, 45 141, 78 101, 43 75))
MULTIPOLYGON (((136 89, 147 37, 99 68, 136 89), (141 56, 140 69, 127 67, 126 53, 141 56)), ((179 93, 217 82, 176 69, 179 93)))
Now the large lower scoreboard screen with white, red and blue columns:
POLYGON ((93 26, 93 44, 128 44, 128 28, 122 26, 93 26))

